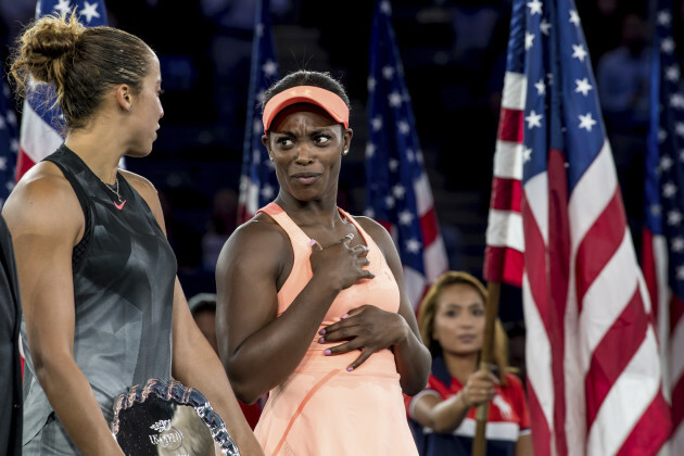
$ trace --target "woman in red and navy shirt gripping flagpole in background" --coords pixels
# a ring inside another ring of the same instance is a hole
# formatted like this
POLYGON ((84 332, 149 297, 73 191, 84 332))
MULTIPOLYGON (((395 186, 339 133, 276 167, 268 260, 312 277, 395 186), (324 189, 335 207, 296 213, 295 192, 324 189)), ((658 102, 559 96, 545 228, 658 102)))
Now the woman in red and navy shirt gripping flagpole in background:
POLYGON ((420 335, 432 354, 428 385, 405 396, 409 425, 421 456, 470 455, 476 409, 491 403, 486 442, 490 456, 532 452, 530 416, 520 379, 509 368, 506 333, 494 326, 496 372, 480 370, 487 291, 463 271, 443 274, 420 304, 420 335))

